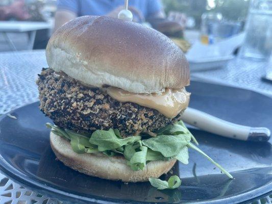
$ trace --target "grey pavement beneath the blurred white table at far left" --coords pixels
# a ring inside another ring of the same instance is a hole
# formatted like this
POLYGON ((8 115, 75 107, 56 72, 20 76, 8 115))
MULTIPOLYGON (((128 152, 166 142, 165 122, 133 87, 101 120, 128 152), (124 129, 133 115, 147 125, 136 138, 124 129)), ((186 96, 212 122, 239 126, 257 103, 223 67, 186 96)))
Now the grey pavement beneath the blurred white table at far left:
MULTIPOLYGON (((28 35, 26 33, 9 33, 9 37, 12 39, 17 50, 24 50, 27 48, 28 35)), ((4 35, 0 33, 0 52, 7 52, 13 50, 9 46, 4 35)))

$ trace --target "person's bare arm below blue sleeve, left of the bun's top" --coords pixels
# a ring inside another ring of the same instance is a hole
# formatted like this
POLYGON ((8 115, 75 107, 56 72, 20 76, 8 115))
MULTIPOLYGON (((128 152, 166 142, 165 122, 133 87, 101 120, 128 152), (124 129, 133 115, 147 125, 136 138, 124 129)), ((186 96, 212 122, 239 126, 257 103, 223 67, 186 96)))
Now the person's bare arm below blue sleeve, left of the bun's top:
POLYGON ((55 15, 55 28, 54 32, 61 27, 64 23, 77 17, 77 14, 68 10, 57 10, 55 15))

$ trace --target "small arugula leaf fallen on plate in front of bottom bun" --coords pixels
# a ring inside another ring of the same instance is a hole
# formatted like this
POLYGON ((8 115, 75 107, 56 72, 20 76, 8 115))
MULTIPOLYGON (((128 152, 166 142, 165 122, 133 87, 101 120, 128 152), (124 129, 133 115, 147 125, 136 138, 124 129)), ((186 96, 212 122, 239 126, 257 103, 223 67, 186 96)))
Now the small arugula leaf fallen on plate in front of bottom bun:
POLYGON ((158 190, 175 189, 181 185, 181 180, 179 176, 177 175, 172 175, 168 179, 168 181, 162 181, 160 179, 149 178, 149 182, 153 187, 157 188, 158 190))

